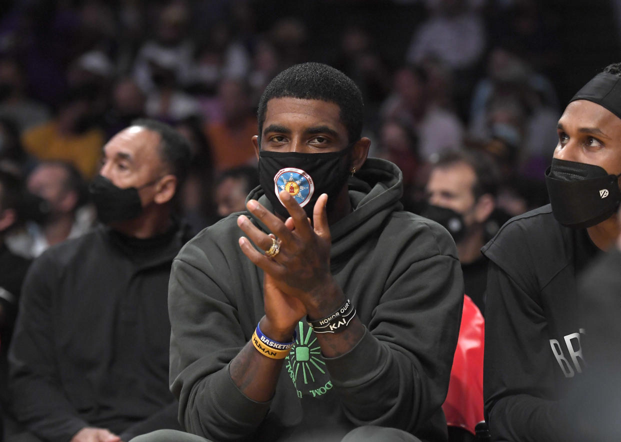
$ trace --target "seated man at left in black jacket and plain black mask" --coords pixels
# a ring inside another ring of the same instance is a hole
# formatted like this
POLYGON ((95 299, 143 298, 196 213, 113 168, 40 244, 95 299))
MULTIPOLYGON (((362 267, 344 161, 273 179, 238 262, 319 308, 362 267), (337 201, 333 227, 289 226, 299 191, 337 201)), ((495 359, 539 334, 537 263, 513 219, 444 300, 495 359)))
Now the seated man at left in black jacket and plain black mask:
POLYGON ((168 125, 137 120, 104 147, 90 191, 105 224, 53 246, 24 282, 9 351, 9 441, 127 442, 179 428, 168 389, 166 286, 186 241, 173 199, 190 152, 168 125))

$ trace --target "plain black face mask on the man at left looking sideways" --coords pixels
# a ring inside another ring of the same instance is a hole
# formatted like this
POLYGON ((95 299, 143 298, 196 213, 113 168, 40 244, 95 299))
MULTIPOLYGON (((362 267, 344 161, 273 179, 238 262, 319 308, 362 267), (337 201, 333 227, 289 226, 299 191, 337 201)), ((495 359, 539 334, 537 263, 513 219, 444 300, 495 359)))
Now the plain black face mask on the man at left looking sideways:
POLYGON ((121 189, 104 176, 97 175, 88 187, 102 223, 135 219, 142 214, 138 191, 152 186, 157 180, 140 187, 121 189))

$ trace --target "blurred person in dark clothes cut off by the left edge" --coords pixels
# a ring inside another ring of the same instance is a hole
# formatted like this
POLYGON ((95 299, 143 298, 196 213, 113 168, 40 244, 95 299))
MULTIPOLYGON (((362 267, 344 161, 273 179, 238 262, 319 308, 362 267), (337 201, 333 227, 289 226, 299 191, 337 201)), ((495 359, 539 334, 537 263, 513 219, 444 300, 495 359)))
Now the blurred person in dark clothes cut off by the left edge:
MULTIPOLYGON (((7 232, 20 221, 20 179, 0 167, 0 403, 7 405, 6 354, 15 319, 22 282, 30 259, 13 253, 4 242, 7 232)), ((1 433, 0 433, 1 434, 1 433)))

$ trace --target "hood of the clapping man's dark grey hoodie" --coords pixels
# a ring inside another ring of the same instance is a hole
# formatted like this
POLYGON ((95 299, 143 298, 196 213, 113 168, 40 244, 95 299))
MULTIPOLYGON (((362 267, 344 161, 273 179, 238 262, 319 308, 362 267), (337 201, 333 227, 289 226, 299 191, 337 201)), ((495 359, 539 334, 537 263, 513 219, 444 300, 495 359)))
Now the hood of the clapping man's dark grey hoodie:
MULTIPOLYGON (((394 210, 403 209, 400 201, 403 194, 403 176, 401 170, 390 161, 367 158, 363 167, 349 178, 348 186, 351 207, 354 210, 330 225, 332 260, 348 254, 360 241, 367 240, 374 230, 378 230, 394 210)), ((273 207, 260 186, 250 192, 247 201, 248 199, 256 199, 273 212, 273 207)), ((254 217, 252 219, 267 231, 265 225, 254 217)))

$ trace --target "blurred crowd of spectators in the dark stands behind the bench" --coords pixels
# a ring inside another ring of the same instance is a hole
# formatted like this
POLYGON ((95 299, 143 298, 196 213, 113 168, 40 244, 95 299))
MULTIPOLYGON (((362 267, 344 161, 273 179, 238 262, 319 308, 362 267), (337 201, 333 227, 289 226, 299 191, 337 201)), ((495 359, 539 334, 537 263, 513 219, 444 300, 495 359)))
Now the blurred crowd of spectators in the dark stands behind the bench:
MULTIPOLYGON (((172 124, 191 142, 193 168, 179 203, 195 231, 239 209, 235 192, 255 182, 223 173, 256 165, 258 97, 274 74, 307 60, 329 63, 360 86, 372 155, 403 171, 407 209, 424 199, 430 161, 460 148, 497 162, 498 201, 508 214, 545 202, 543 171, 564 99, 551 78, 571 83, 560 75, 565 42, 556 31, 571 20, 560 5, 288 3, 8 2, 0 12, 0 161, 48 202, 27 216, 51 222, 71 214, 61 231, 39 223, 9 243, 36 256, 44 241, 37 235, 51 244, 93 222, 83 186, 97 173, 102 145, 140 116, 172 124), (41 161, 53 163, 33 174, 41 161), (70 189, 79 196, 61 204, 70 189)), ((603 4, 591 14, 606 7, 612 11, 603 4)))

